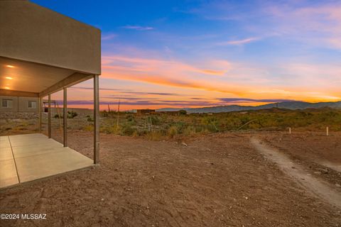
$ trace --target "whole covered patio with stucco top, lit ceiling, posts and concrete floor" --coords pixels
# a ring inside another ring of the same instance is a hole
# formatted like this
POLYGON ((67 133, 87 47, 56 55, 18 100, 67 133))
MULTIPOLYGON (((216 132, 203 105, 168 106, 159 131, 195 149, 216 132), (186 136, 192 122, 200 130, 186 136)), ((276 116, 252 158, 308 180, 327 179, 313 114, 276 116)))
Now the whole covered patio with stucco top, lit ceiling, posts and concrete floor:
MULTIPOLYGON (((0 136, 0 188, 99 163, 99 29, 30 1, 0 1, 0 96, 37 100, 38 132, 0 136), (51 94, 93 80, 93 160, 51 137, 51 94), (48 96, 48 132, 42 134, 43 97, 48 96)), ((2 102, 2 101, 1 101, 2 102)), ((1 113, 0 113, 1 114, 1 113)))

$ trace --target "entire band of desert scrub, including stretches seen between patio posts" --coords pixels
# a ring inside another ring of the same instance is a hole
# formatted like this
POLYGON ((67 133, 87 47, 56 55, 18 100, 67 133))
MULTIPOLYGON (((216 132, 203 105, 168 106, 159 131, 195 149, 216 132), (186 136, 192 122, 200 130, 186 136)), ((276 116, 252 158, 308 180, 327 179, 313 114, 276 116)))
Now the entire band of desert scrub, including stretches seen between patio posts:
MULTIPOLYGON (((61 130, 60 114, 53 110, 53 128, 61 130)), ((43 113, 43 126, 46 128, 47 113, 43 113)), ((73 109, 68 111, 70 130, 93 130, 91 110, 73 109)), ((2 135, 20 131, 34 132, 38 126, 38 116, 28 118, 0 119, 2 135)), ((227 131, 341 131, 340 109, 264 109, 255 111, 233 111, 218 114, 135 114, 129 112, 101 111, 100 132, 113 135, 143 136, 158 140, 183 135, 221 133, 227 131)))

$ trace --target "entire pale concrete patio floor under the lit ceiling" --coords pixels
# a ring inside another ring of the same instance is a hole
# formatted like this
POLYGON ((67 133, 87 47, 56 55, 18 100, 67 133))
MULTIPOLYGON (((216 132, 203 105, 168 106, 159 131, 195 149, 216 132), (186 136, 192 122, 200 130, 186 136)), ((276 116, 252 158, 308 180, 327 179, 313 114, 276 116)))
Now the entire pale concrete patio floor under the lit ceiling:
POLYGON ((0 188, 93 165, 90 158, 43 134, 0 138, 0 188))

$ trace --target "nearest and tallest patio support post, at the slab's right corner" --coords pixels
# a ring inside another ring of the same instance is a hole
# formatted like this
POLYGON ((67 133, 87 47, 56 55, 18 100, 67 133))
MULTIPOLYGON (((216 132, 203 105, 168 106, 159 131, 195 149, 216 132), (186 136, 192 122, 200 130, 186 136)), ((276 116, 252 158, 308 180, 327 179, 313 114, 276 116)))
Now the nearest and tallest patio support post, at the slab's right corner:
POLYGON ((99 163, 99 76, 94 75, 94 164, 99 163))

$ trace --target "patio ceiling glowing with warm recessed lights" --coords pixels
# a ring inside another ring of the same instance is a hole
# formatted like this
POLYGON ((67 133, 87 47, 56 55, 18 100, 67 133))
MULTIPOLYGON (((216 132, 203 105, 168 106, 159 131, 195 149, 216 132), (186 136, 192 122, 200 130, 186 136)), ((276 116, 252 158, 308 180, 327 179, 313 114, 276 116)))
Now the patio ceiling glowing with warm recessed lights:
POLYGON ((0 95, 44 96, 91 77, 75 70, 0 57, 0 95))

